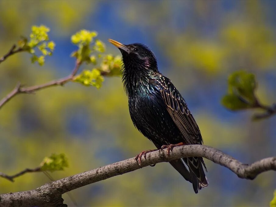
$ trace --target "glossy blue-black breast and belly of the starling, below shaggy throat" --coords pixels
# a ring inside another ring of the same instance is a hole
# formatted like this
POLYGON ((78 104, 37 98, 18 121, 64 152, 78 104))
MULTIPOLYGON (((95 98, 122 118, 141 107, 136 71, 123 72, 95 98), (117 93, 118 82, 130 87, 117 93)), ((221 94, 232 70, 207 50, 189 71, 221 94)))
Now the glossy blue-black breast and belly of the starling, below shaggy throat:
POLYGON ((158 91, 138 93, 129 97, 129 112, 134 126, 156 145, 168 144, 178 137, 165 103, 158 91))

